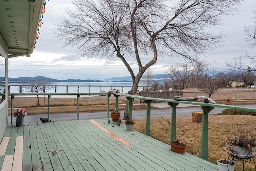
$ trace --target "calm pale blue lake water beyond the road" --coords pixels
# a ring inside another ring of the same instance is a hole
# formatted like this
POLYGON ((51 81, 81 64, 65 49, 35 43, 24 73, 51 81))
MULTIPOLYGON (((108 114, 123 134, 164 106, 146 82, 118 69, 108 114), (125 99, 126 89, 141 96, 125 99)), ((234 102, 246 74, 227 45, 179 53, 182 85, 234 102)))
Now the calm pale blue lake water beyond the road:
MULTIPOLYGON (((25 85, 31 85, 30 82, 9 82, 9 85, 10 93, 19 93, 20 86, 22 86, 22 93, 31 92, 30 89, 25 87, 25 85)), ((132 88, 131 82, 48 82, 47 85, 51 85, 51 87, 45 93, 55 93, 55 90, 56 93, 78 93, 78 91, 79 93, 98 93, 102 90, 108 92, 110 89, 119 89, 120 93, 128 93, 132 88)), ((138 90, 142 90, 142 85, 140 86, 138 90)))

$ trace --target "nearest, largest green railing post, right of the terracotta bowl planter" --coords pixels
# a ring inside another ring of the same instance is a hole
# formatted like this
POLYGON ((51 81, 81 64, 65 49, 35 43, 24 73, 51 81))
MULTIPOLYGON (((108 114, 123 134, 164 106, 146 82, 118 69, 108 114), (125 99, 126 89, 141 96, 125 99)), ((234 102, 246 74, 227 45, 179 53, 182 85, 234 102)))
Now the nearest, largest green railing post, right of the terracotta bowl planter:
POLYGON ((214 107, 201 105, 201 109, 203 109, 203 119, 200 158, 208 160, 208 113, 214 109, 214 107))

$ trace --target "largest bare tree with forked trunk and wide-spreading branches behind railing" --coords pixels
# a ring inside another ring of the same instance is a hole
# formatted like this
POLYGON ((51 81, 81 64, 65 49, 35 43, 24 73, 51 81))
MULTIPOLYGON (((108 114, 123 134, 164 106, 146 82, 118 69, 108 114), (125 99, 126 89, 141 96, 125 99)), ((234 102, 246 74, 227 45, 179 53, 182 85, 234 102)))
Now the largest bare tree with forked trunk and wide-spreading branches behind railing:
MULTIPOLYGON (((158 55, 198 62, 196 56, 219 45, 222 34, 206 31, 222 24, 242 0, 73 0, 74 10, 57 25, 66 46, 87 58, 115 56, 124 63, 135 94, 144 72, 158 55), (142 56, 146 56, 145 59, 142 56), (143 59, 143 60, 142 60, 143 59), (129 60, 136 60, 134 73, 129 60)), ((126 105, 127 113, 128 106, 126 105)))

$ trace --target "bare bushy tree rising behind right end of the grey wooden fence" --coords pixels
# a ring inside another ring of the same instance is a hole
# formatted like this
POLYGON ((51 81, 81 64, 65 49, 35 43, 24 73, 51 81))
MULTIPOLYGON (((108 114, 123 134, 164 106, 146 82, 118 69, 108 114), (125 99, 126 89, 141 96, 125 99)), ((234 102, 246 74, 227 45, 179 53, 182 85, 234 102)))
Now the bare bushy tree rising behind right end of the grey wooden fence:
POLYGON ((184 89, 188 84, 188 80, 193 70, 188 64, 177 64, 176 66, 171 66, 166 71, 168 78, 172 82, 174 89, 184 89))

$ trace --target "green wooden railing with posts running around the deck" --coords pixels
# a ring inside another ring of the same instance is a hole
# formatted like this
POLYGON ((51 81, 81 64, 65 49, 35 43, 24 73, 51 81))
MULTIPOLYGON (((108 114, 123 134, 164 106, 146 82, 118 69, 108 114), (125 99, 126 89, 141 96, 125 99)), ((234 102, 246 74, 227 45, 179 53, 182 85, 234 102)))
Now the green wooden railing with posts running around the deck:
MULTIPOLYGON (((161 98, 152 98, 152 97, 143 97, 138 95, 130 95, 130 94, 124 94, 124 93, 113 93, 116 97, 116 109, 118 109, 118 97, 124 96, 129 101, 128 103, 128 113, 130 119, 132 119, 132 101, 133 99, 142 99, 147 104, 146 109, 146 128, 145 128, 145 134, 150 136, 150 104, 152 101, 160 101, 160 102, 166 102, 168 105, 171 106, 172 110, 172 116, 171 116, 171 133, 170 133, 170 141, 174 141, 176 139, 176 106, 179 103, 184 104, 192 104, 192 105, 198 105, 203 110, 203 116, 202 116, 202 137, 201 137, 201 150, 200 150, 200 157, 202 159, 207 160, 208 159, 208 113, 212 111, 215 107, 219 108, 225 108, 225 109, 238 109, 243 111, 254 111, 256 112, 256 108, 250 108, 250 107, 240 107, 240 106, 234 106, 234 105, 223 105, 223 104, 212 104, 212 103, 203 103, 203 102, 196 102, 196 101, 176 101, 173 99, 161 99, 161 98)), ((110 95, 112 93, 9 93, 11 96, 11 111, 12 111, 12 99, 14 98, 14 95, 48 95, 48 121, 50 118, 50 97, 51 95, 76 95, 76 101, 77 101, 77 119, 79 120, 79 97, 80 95, 107 95, 107 118, 110 117, 110 95)), ((12 112, 11 112, 12 113, 12 112)), ((12 115, 12 114, 11 114, 12 115)), ((12 117, 11 117, 12 122, 12 117)))

